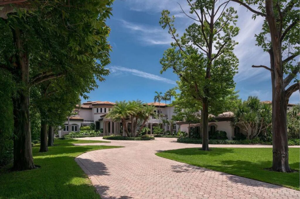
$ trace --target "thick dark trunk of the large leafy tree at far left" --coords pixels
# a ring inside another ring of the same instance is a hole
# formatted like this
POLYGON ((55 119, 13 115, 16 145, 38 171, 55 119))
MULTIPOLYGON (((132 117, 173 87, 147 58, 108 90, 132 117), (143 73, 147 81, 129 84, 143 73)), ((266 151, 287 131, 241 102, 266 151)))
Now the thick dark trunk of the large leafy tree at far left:
POLYGON ((17 97, 13 97, 14 139, 13 139, 13 169, 34 169, 31 146, 31 132, 29 119, 29 62, 23 48, 21 32, 18 27, 11 28, 13 41, 16 45, 16 82, 24 85, 18 90, 17 97))

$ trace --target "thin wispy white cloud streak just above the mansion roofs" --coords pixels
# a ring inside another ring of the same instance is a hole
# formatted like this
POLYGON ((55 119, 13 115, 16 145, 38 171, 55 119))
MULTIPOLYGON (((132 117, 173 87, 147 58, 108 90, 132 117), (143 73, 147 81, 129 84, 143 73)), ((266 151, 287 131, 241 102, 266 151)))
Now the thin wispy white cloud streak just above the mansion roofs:
POLYGON ((164 78, 162 76, 147 73, 147 72, 140 71, 140 70, 133 69, 133 68, 125 68, 125 67, 122 67, 122 66, 110 66, 110 67, 108 67, 108 69, 110 69, 110 72, 112 74, 120 75, 120 74, 124 74, 124 73, 130 73, 132 75, 143 77, 143 78, 146 78, 146 79, 152 79, 152 80, 155 80, 155 81, 160 81, 160 82, 165 82, 165 83, 168 83, 168 84, 176 85, 176 82, 171 80, 171 79, 167 79, 167 78, 164 78))

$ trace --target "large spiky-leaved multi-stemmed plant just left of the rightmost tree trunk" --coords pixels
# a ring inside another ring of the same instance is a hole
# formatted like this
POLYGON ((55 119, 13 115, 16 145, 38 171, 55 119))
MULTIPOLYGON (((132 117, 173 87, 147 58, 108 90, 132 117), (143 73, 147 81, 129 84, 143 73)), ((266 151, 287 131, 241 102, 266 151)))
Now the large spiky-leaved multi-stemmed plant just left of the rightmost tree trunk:
POLYGON ((232 125, 240 124, 242 130, 247 132, 247 139, 252 140, 260 134, 267 134, 271 116, 271 104, 261 103, 258 97, 249 96, 247 101, 235 108, 232 125))

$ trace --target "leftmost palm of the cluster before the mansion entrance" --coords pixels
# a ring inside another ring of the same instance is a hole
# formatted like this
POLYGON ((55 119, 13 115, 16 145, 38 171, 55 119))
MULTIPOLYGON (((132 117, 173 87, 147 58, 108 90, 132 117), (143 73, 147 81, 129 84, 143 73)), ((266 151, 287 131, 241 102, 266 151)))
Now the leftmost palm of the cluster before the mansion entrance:
POLYGON ((111 110, 107 113, 106 117, 110 118, 114 121, 122 121, 125 132, 128 137, 130 134, 128 132, 128 127, 126 124, 126 119, 132 114, 132 109, 128 102, 124 101, 116 101, 116 105, 111 108, 111 110))

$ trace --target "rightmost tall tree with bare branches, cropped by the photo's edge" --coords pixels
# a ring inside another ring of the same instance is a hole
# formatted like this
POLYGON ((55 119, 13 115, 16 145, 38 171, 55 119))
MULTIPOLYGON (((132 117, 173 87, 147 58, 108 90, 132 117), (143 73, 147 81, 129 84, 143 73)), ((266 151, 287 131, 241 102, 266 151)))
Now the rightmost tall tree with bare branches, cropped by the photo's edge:
POLYGON ((262 32, 256 35, 257 45, 269 53, 272 85, 272 142, 273 163, 271 170, 291 172, 286 127, 286 109, 289 97, 299 90, 299 1, 242 1, 231 0, 253 12, 253 18, 262 16, 262 32), (253 7, 257 7, 253 9, 253 7), (284 77, 284 74, 286 76, 284 77), (290 83, 294 79, 292 85, 290 83))

